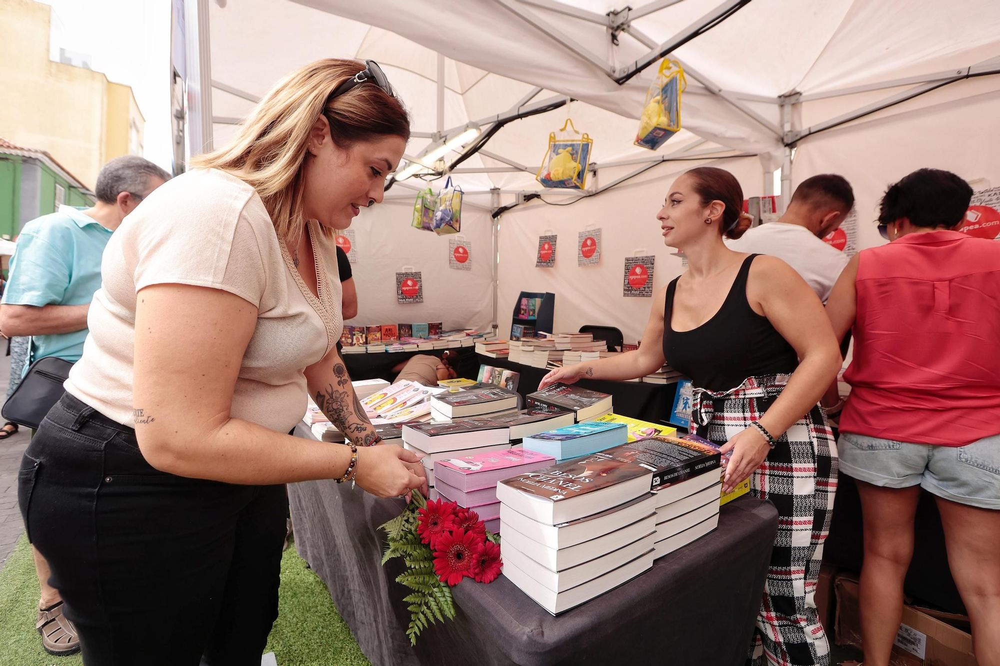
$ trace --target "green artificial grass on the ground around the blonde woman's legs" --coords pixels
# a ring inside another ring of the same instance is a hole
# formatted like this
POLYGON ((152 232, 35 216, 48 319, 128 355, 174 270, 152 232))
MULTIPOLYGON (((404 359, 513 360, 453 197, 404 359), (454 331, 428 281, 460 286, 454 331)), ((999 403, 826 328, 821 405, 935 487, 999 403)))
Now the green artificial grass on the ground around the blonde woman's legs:
MULTIPOLYGON (((54 657, 35 631, 38 579, 31 547, 22 536, 0 571, 0 666, 82 666, 79 654, 54 657)), ((316 574, 295 552, 281 559, 278 619, 265 652, 278 666, 368 664, 316 574)))

